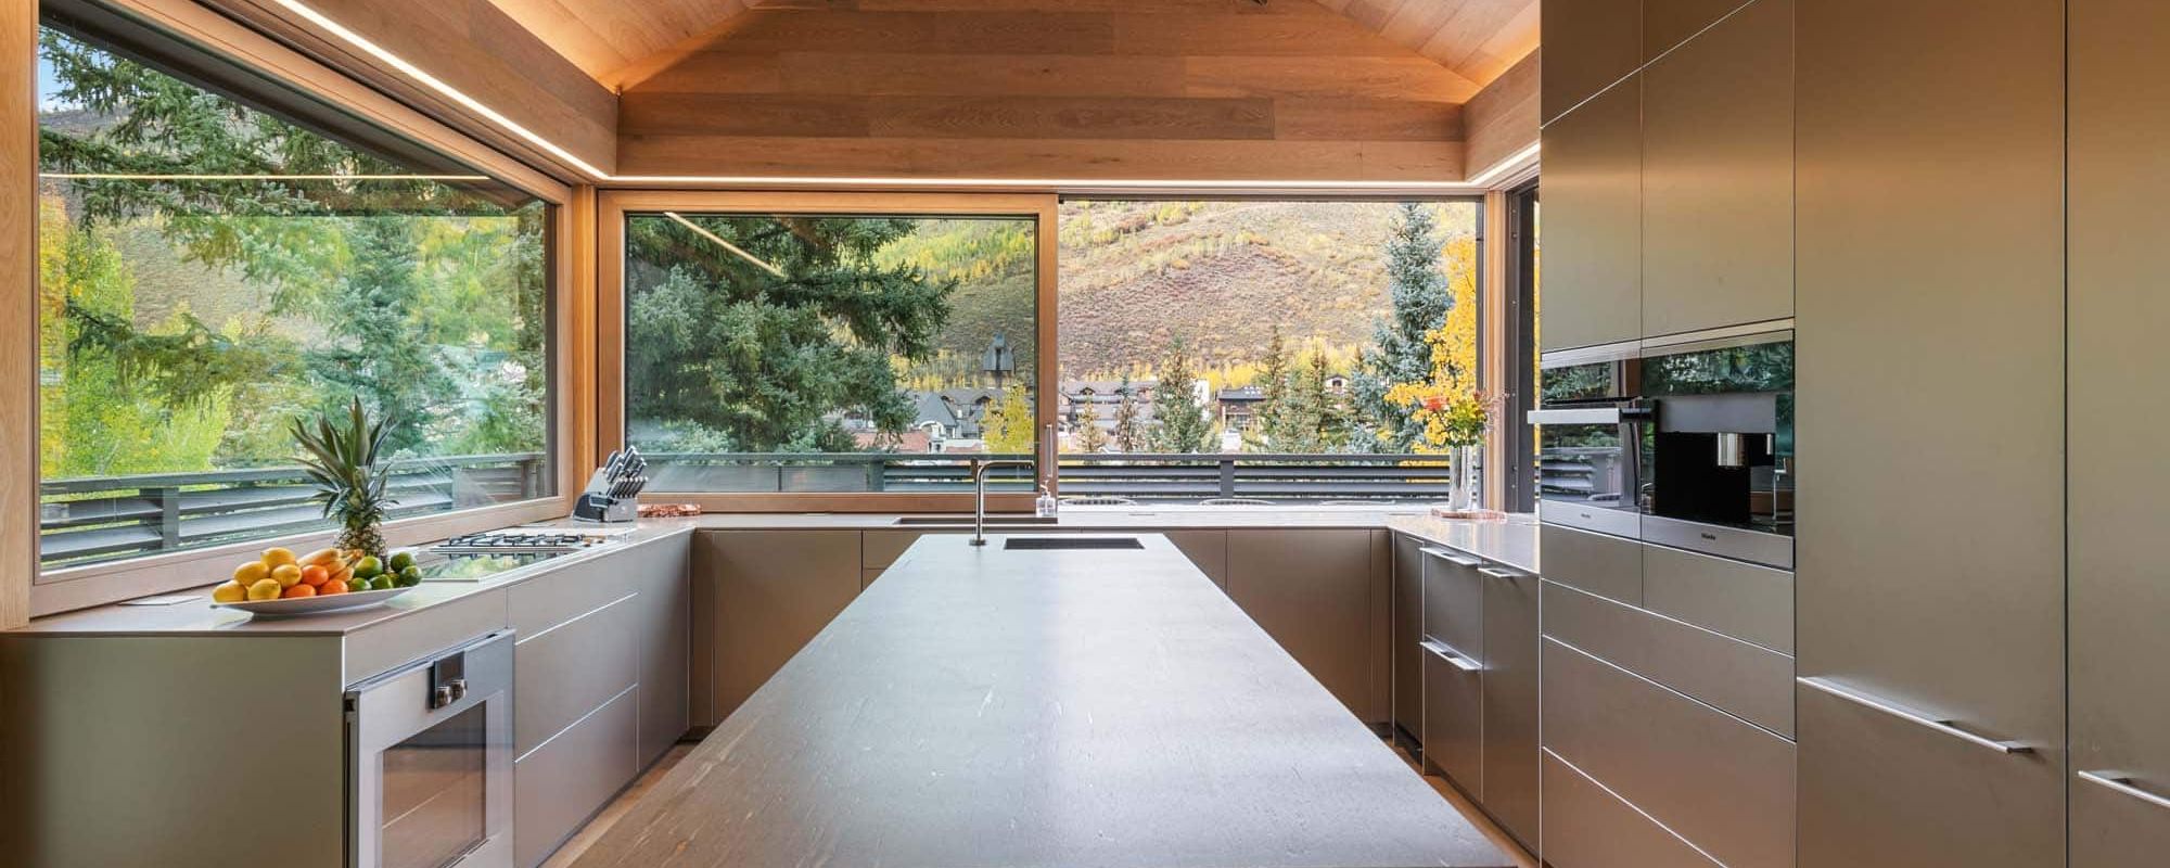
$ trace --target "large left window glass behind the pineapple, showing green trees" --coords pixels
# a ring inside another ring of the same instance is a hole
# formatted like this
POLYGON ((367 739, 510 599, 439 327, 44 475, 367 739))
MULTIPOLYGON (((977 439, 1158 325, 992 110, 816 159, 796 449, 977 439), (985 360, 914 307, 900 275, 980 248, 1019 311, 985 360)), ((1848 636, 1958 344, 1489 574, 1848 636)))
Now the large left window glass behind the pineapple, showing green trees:
POLYGON ((48 566, 332 527, 289 430, 352 397, 395 519, 551 495, 547 204, 187 46, 39 37, 48 566))

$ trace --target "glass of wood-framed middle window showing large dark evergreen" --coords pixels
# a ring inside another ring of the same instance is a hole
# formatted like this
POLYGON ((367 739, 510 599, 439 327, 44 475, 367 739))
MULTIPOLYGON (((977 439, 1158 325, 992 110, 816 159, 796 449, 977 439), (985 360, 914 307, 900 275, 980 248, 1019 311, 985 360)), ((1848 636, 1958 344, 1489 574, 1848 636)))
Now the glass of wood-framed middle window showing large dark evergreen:
POLYGON ((1035 310, 1033 217, 627 215, 625 443, 653 490, 968 490, 1035 454, 1035 310))

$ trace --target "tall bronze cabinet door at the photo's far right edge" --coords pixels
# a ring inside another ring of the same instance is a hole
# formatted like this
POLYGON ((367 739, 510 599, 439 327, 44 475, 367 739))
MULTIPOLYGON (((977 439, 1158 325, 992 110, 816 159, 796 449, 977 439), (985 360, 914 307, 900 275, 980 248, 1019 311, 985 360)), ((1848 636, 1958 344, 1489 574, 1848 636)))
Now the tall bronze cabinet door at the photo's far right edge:
POLYGON ((2072 868, 2170 853, 2170 464, 2135 432, 2170 423, 2170 4, 2070 2, 2070 701, 2072 868))

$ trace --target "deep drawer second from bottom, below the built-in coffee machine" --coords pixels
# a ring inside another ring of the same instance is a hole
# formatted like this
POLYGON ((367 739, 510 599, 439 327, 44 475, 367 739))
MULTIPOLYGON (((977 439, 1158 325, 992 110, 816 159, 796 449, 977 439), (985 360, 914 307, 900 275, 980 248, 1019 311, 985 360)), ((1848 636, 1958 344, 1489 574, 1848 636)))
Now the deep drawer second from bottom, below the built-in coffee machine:
POLYGON ((1725 866, 1792 866, 1792 742, 1556 640, 1543 727, 1547 751, 1725 866))

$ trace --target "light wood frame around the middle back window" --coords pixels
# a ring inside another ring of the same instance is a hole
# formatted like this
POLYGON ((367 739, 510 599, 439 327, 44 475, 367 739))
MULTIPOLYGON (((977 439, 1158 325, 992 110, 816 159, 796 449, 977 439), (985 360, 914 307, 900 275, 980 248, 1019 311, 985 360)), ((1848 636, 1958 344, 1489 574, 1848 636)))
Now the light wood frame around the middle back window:
MULTIPOLYGON (((898 215, 898 217, 1033 217, 1035 243, 1035 341, 1033 432, 1039 449, 1033 475, 1055 490, 1055 467, 1046 462, 1039 436, 1057 419, 1055 362, 1055 254, 1059 245, 1055 193, 749 193, 749 191, 636 191, 612 189, 597 195, 597 454, 625 445, 625 215, 679 210, 701 215, 898 215)), ((987 495, 990 512, 1029 512, 1035 495, 987 495)), ((970 493, 658 493, 653 501, 697 503, 703 512, 966 512, 970 493)))

